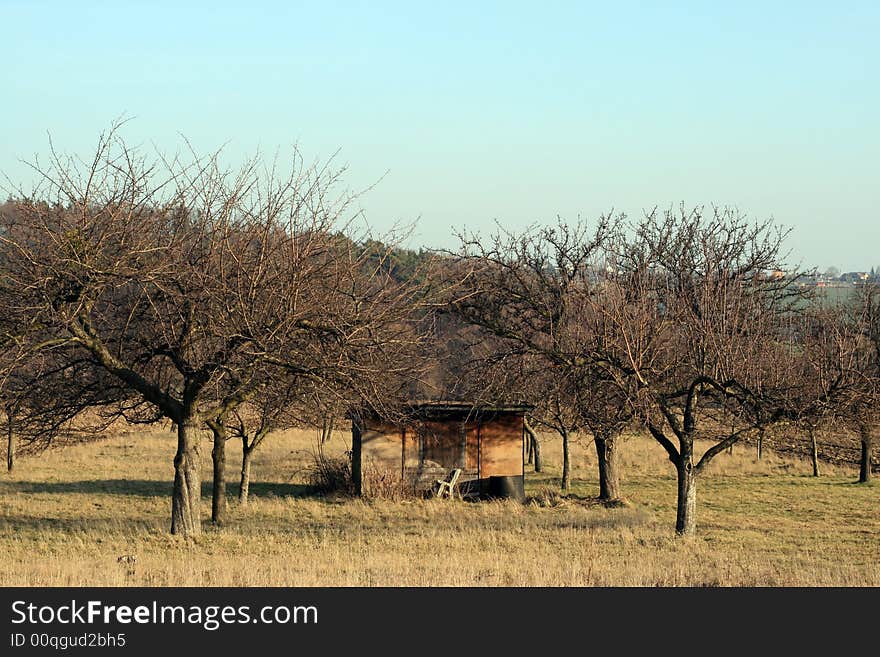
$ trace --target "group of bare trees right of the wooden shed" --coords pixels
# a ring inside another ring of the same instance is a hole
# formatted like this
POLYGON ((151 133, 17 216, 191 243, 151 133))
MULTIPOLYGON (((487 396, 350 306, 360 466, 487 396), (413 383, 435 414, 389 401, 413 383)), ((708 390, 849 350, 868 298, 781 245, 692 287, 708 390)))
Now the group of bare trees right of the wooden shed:
POLYGON ((621 495, 619 437, 642 428, 675 468, 676 533, 691 534, 709 463, 768 431, 854 426, 860 480, 871 476, 876 290, 832 307, 796 273, 773 275, 787 270, 785 237, 733 209, 686 207, 470 236, 454 312, 492 345, 478 360, 496 365, 497 387, 559 433, 563 488, 569 436, 586 431, 600 499, 621 495))

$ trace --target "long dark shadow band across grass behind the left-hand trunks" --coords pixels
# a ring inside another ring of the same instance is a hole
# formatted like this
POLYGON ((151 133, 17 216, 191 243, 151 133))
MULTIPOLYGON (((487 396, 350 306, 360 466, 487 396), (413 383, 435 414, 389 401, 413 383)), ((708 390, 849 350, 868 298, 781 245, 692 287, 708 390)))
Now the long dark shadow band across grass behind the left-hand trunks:
MULTIPOLYGON (((169 497, 171 481, 152 479, 88 479, 84 481, 13 481, 0 484, 9 493, 78 493, 83 495, 131 495, 134 497, 169 497)), ((305 484, 251 482, 254 497, 309 497, 317 495, 313 486, 305 484)), ((226 487, 230 498, 238 496, 238 486, 226 487)), ((202 497, 211 496, 211 482, 202 482, 202 497)))

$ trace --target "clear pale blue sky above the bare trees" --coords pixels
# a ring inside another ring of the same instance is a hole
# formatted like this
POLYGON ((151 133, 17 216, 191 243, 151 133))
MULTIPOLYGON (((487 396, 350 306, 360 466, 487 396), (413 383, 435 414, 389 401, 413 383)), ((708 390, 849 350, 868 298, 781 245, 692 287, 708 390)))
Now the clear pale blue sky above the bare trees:
POLYGON ((130 142, 341 149, 380 230, 737 205, 880 266, 880 3, 0 0, 0 170, 130 142), (185 5, 185 6, 178 6, 185 5), (727 5, 726 7, 723 5, 727 5))

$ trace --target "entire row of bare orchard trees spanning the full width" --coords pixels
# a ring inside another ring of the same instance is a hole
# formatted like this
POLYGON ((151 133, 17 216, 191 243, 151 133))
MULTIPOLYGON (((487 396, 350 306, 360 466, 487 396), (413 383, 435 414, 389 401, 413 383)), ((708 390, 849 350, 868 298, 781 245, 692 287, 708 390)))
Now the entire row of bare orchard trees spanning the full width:
POLYGON ((589 436, 608 504, 626 496, 625 436, 650 435, 681 535, 709 464, 742 441, 809 440, 818 474, 817 431, 850 432, 871 478, 880 292, 831 303, 798 286, 772 222, 682 206, 415 257, 358 232, 332 162, 221 161, 149 156, 114 129, 88 160, 36 163, 37 187, 0 208, 9 469, 16 445, 173 423, 170 529, 193 536, 203 432, 222 524, 230 439, 244 505, 273 431, 457 397, 533 404, 530 459, 540 468, 538 430, 556 436, 563 489, 570 442, 589 436))

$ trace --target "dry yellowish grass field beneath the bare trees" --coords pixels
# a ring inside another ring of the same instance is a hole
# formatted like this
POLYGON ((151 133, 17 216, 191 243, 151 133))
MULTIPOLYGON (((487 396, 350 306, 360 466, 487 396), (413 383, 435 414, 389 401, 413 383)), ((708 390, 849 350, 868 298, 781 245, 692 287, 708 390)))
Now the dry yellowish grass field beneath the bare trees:
MULTIPOLYGON (((855 472, 737 447, 698 483, 698 535, 673 537, 672 466, 650 439, 623 445, 627 505, 595 495, 595 456, 575 445, 558 494, 558 447, 527 476, 530 502, 363 501, 309 494, 314 432, 273 436, 251 504, 195 541, 168 534, 174 437, 125 433, 22 459, 0 476, 0 585, 815 586, 880 585, 880 486, 855 472), (133 555, 133 563, 118 558, 133 555)), ((341 453, 347 436, 329 447, 341 453)), ((210 509, 210 444, 203 446, 210 509)))

